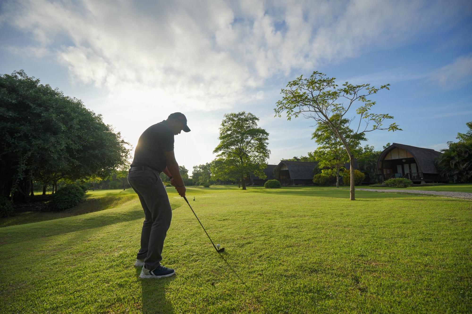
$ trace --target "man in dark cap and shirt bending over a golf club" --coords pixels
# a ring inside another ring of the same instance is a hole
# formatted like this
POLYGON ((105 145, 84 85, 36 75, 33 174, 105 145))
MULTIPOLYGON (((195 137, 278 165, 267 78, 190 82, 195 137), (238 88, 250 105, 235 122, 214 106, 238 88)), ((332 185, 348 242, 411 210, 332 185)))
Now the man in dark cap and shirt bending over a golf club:
POLYGON ((143 266, 141 278, 161 278, 173 275, 172 268, 160 264, 162 247, 172 219, 166 188, 160 180, 163 172, 181 197, 185 185, 174 156, 174 135, 190 132, 187 119, 180 112, 167 120, 151 125, 141 134, 135 149, 135 157, 128 173, 129 185, 138 194, 144 210, 141 232, 141 248, 135 266, 143 266))

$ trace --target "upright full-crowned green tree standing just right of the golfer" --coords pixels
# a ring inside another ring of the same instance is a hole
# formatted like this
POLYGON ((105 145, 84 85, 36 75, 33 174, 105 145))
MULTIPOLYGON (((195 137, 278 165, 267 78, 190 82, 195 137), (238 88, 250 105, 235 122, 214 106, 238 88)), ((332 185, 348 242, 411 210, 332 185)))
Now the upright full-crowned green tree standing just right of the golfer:
POLYGON ((257 126, 259 118, 244 111, 224 115, 219 128, 219 144, 213 150, 224 160, 228 173, 237 172, 243 190, 246 190, 245 178, 254 174, 266 178, 270 150, 267 148, 269 133, 257 126))

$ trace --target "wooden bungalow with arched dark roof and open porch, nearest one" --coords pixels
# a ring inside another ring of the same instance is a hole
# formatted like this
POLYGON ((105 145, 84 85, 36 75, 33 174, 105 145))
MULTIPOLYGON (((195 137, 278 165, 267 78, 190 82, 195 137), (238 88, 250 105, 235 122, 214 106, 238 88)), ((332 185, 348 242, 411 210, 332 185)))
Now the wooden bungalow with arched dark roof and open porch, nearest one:
POLYGON ((381 182, 390 178, 408 178, 413 183, 442 181, 434 161, 441 155, 434 149, 393 143, 377 160, 381 182))

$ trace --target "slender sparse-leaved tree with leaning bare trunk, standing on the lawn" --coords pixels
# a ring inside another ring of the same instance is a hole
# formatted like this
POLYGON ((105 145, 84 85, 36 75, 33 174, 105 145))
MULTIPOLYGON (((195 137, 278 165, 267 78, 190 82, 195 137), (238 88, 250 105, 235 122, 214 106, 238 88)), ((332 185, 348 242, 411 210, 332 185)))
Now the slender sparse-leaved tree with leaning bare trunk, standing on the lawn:
POLYGON ((350 182, 350 199, 354 200, 354 155, 350 150, 350 141, 357 138, 360 134, 375 130, 396 131, 401 130, 396 123, 388 127, 382 127, 386 119, 393 119, 389 114, 371 113, 371 108, 376 104, 375 101, 367 99, 368 96, 377 93, 382 89, 389 89, 389 84, 382 85, 380 88, 370 84, 354 85, 348 82, 342 87, 338 87, 335 78, 326 77, 326 74, 313 72, 309 78, 303 78, 300 75, 294 81, 288 82, 287 88, 281 90, 282 99, 278 100, 277 107, 274 108, 275 114, 281 117, 286 112, 287 119, 303 116, 314 119, 318 124, 326 124, 343 142, 346 153, 349 157, 350 169, 352 172, 350 182), (351 139, 346 139, 339 131, 344 116, 350 112, 355 104, 359 104, 355 113, 359 118, 359 123, 351 139), (339 122, 333 123, 330 118, 333 115, 339 115, 339 122), (362 124, 364 122, 364 124, 362 124))

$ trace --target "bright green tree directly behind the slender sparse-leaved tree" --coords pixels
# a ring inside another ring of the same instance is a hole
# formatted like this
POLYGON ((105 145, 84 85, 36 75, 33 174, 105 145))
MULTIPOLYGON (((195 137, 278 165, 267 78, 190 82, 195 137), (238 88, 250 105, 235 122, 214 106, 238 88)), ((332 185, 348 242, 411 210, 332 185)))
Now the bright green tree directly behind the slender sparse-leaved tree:
MULTIPOLYGON (((354 131, 349 127, 349 119, 341 119, 340 121, 340 116, 336 114, 332 115, 329 120, 331 123, 339 125, 338 132, 348 140, 349 150, 357 157, 361 151, 361 141, 366 140, 365 135, 360 133, 353 138, 354 131)), ((336 187, 339 188, 341 167, 344 167, 344 164, 349 161, 343 142, 327 124, 318 124, 312 134, 312 139, 318 144, 315 156, 318 166, 322 169, 321 173, 336 177, 336 187)))

